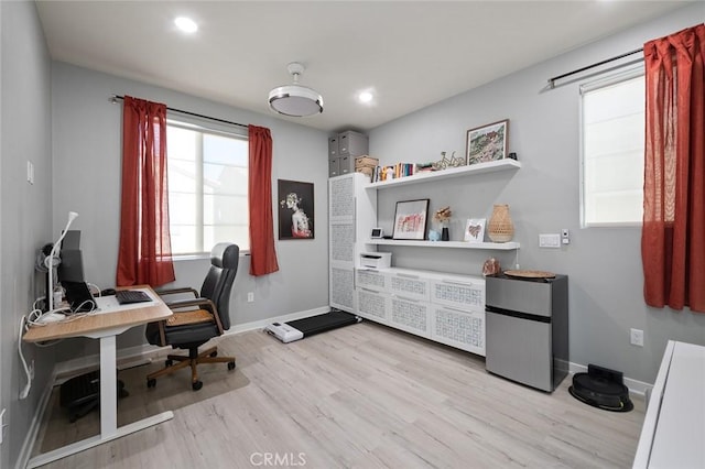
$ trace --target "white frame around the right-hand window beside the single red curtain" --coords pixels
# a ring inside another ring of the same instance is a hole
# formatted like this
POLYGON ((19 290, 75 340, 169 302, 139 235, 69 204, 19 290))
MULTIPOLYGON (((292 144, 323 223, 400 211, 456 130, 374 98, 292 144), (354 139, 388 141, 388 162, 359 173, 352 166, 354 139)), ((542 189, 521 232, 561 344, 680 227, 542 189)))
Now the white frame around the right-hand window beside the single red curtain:
MULTIPOLYGON (((585 215, 586 204, 586 171, 585 171, 585 122, 584 122, 584 95, 596 89, 605 88, 611 85, 617 85, 622 81, 627 81, 639 76, 644 76, 644 65, 640 62, 637 65, 631 65, 620 69, 619 72, 611 73, 609 75, 603 75, 600 78, 587 81, 581 85, 579 92, 579 211, 581 211, 581 227, 582 228, 615 228, 615 227, 641 227, 641 221, 614 221, 614 222, 587 222, 585 215)), ((646 97, 644 97, 646 99, 646 97)), ((643 172, 641 175, 643 179, 643 172)))

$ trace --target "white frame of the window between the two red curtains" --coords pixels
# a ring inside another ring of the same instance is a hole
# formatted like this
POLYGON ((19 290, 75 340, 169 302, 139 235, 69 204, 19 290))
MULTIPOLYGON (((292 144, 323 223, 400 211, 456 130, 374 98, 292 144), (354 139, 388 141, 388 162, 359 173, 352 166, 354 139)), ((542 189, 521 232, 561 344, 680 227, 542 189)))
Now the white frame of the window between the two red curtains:
MULTIPOLYGON (((193 118, 191 116, 178 116, 176 118, 173 117, 167 117, 166 119, 166 126, 169 127, 175 127, 175 128, 182 128, 182 129, 186 129, 186 130, 193 130, 193 131, 197 131, 200 132, 202 134, 212 134, 212 135, 220 135, 220 137, 227 137, 230 139, 238 139, 238 140, 243 140, 247 141, 249 144, 249 134, 248 134, 248 130, 247 129, 239 129, 236 128, 235 126, 227 126, 227 124, 219 124, 216 121, 208 121, 208 120, 200 120, 197 118, 193 118), (205 121, 205 124, 204 124, 205 121)), ((167 133, 169 134, 169 133, 167 133)), ((200 148, 203 148, 203 145, 200 145, 200 148)), ((169 161, 169 141, 166 144, 166 157, 169 161)), ((200 152, 198 155, 196 155, 198 159, 198 163, 196 165, 196 171, 199 172, 196 174, 196 178, 199 182, 198 184, 200 185, 200 193, 198 194, 198 192, 196 192, 196 197, 199 197, 199 203, 198 206, 203 206, 203 197, 204 197, 204 190, 203 190, 203 152, 200 152)), ((249 197, 249 194, 248 194, 249 197)), ((173 210, 172 207, 170 207, 170 214, 173 210)), ((170 217, 171 218, 171 217, 170 217)), ((196 234, 197 237, 200 237, 200 246, 203 246, 203 230, 204 230, 204 212, 203 209, 198 210, 196 214, 196 225, 200 227, 200 230, 198 231, 198 233, 196 234)), ((242 247, 240 247, 240 254, 248 254, 250 252, 249 250, 249 244, 247 247, 247 249, 242 249, 242 247)), ((189 260, 189 259, 206 259, 209 258, 210 255, 210 251, 203 251, 203 252, 189 252, 189 253, 176 253, 173 254, 173 259, 176 261, 180 260, 189 260)))

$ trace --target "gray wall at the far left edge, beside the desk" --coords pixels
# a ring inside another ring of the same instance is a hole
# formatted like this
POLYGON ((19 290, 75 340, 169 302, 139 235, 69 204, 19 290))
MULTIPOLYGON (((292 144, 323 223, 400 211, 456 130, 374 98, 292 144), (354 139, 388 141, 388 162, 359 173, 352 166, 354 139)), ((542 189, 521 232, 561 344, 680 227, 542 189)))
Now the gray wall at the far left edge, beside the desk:
POLYGON ((0 90, 0 406, 7 408, 0 467, 21 450, 54 366, 51 352, 25 345, 36 359, 32 392, 18 358, 19 321, 40 293, 36 250, 51 237, 51 63, 34 2, 0 2, 2 81, 0 90), (25 182, 26 162, 35 183, 25 182))

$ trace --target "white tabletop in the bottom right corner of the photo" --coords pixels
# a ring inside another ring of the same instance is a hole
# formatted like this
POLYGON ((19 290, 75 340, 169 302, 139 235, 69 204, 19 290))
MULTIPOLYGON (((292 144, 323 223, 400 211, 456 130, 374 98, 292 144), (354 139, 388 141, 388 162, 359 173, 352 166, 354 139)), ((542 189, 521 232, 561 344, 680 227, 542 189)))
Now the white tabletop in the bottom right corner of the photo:
POLYGON ((632 468, 705 468, 705 347, 669 340, 632 468))

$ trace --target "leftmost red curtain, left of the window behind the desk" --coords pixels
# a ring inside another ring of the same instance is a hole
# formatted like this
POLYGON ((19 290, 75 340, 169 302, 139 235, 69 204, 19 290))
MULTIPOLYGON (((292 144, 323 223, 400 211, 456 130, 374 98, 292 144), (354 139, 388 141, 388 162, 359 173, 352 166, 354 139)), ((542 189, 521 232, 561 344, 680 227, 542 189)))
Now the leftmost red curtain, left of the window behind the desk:
POLYGON ((169 234, 166 106, 124 97, 117 285, 175 280, 169 234))

